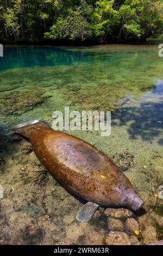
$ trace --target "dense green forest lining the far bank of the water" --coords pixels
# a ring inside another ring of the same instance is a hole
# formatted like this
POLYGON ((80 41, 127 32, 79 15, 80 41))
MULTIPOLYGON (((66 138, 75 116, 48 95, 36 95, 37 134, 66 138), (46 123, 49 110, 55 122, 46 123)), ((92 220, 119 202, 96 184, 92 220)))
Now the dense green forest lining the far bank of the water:
POLYGON ((4 44, 163 38, 162 0, 0 0, 4 44))

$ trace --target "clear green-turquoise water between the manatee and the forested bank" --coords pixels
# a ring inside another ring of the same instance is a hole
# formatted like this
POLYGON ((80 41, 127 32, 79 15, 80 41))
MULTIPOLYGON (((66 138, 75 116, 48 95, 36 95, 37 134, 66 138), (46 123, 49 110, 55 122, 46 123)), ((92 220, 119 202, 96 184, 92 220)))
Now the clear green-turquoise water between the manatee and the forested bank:
POLYGON ((53 112, 64 112, 65 106, 79 112, 111 111, 109 137, 101 137, 100 131, 67 132, 110 157, 124 151, 134 155, 139 170, 126 175, 140 191, 155 191, 163 177, 162 62, 158 46, 5 47, 1 131, 33 119, 52 125, 53 112))

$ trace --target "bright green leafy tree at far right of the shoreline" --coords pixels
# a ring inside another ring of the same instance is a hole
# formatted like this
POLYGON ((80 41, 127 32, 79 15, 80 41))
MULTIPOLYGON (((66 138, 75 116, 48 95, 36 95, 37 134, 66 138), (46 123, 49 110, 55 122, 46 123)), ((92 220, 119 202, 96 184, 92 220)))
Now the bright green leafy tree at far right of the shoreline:
POLYGON ((161 31, 163 3, 157 0, 127 0, 120 8, 119 41, 142 40, 161 31))

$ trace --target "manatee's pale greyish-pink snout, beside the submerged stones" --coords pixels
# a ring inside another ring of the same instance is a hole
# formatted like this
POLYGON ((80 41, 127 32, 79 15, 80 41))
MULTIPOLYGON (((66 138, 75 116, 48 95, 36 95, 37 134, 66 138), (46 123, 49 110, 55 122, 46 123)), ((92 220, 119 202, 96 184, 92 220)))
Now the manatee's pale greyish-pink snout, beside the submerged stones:
POLYGON ((137 211, 143 205, 143 200, 136 194, 135 190, 132 188, 128 188, 123 191, 123 197, 121 200, 122 205, 129 206, 132 210, 137 211))

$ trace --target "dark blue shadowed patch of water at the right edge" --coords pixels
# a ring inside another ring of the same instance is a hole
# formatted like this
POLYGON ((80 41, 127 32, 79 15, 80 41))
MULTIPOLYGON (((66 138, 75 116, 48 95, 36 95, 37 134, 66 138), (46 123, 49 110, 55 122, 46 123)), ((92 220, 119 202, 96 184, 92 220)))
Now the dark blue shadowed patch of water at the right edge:
MULTIPOLYGON (((124 106, 116 112, 112 125, 127 125, 127 131, 131 139, 141 137, 143 141, 152 142, 153 138, 159 138, 163 132, 163 97, 159 101, 152 100, 141 102, 139 106, 124 106)), ((163 145, 163 139, 158 143, 163 145)))

